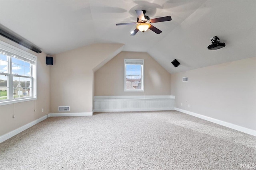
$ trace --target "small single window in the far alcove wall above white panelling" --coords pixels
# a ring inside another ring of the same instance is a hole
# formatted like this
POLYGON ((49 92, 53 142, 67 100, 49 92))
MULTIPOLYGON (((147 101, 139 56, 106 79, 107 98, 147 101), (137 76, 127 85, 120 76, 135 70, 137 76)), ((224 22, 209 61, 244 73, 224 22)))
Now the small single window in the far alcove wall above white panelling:
POLYGON ((124 59, 124 91, 125 92, 143 92, 144 60, 142 59, 124 59))

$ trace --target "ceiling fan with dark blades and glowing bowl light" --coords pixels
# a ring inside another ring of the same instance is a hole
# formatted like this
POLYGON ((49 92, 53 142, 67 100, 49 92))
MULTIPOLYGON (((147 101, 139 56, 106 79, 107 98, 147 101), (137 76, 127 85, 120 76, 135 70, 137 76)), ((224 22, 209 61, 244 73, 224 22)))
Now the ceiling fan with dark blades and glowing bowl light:
POLYGON ((136 29, 131 32, 131 35, 135 35, 139 30, 142 32, 147 31, 148 29, 154 31, 157 34, 162 33, 162 31, 153 25, 151 23, 156 22, 163 22, 163 21, 171 21, 171 16, 166 17, 160 17, 160 18, 154 18, 150 19, 148 16, 145 16, 146 10, 135 10, 136 14, 138 15, 137 22, 129 22, 129 23, 116 23, 116 25, 132 25, 137 24, 136 29))

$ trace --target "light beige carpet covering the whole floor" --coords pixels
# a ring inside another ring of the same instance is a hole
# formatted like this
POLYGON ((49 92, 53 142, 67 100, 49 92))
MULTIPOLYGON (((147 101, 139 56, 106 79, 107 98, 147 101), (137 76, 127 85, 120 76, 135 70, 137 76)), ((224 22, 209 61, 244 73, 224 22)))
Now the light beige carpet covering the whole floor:
POLYGON ((0 144, 1 170, 248 170, 253 164, 255 137, 178 111, 50 117, 0 144))

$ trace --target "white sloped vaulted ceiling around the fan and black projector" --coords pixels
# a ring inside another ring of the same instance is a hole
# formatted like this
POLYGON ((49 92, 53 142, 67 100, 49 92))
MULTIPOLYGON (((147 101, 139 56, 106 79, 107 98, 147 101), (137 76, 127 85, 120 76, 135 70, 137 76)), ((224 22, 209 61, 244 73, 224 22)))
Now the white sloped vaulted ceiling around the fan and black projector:
POLYGON ((0 1, 0 24, 53 55, 91 43, 123 43, 123 51, 151 55, 168 72, 181 72, 256 56, 256 1, 0 1), (153 23, 151 30, 130 36, 135 10, 150 18, 171 16, 153 23), (226 47, 208 50, 218 36, 226 47), (177 59, 175 68, 171 61, 177 59))

